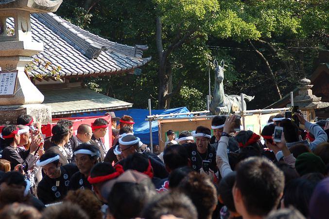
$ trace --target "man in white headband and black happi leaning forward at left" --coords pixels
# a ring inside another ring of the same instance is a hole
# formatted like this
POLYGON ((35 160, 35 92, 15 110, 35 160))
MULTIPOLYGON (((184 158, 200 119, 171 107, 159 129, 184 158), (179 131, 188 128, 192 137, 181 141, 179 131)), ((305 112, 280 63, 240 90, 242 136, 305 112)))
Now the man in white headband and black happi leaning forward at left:
POLYGON ((44 204, 61 201, 69 191, 69 180, 71 176, 79 171, 75 164, 61 165, 59 155, 47 153, 36 162, 42 167, 45 176, 37 187, 38 198, 44 204))

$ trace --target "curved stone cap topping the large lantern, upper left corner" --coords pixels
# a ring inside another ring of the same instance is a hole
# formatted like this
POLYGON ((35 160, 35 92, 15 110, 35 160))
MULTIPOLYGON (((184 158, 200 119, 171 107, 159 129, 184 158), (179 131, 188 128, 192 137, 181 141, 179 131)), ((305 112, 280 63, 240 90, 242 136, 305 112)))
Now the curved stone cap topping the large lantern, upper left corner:
POLYGON ((63 0, 1 0, 0 10, 24 10, 30 13, 55 12, 63 0))

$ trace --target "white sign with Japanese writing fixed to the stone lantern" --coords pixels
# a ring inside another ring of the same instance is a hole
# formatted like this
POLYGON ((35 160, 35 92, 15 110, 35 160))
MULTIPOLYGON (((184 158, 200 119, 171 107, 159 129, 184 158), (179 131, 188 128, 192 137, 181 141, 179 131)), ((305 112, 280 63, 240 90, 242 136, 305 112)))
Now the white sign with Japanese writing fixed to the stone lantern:
POLYGON ((0 97, 12 97, 16 92, 18 71, 0 72, 0 97))

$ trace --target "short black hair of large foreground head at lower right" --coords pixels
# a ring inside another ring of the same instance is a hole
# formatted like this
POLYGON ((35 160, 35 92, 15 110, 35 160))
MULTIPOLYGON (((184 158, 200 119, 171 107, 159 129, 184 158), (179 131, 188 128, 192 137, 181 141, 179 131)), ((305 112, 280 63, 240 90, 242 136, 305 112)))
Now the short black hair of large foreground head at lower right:
POLYGON ((283 172, 265 158, 250 157, 237 166, 236 188, 249 215, 265 216, 280 201, 283 172))

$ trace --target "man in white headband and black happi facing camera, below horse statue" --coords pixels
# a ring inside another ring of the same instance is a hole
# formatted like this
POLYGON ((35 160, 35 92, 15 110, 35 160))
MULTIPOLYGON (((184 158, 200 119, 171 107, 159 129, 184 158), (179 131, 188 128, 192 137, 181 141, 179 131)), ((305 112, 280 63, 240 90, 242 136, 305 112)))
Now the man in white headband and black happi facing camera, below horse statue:
POLYGON ((199 171, 202 168, 203 161, 209 161, 209 168, 217 172, 216 149, 209 144, 211 138, 210 129, 204 126, 198 126, 193 137, 196 139, 196 144, 190 143, 184 145, 188 150, 191 167, 199 171))

